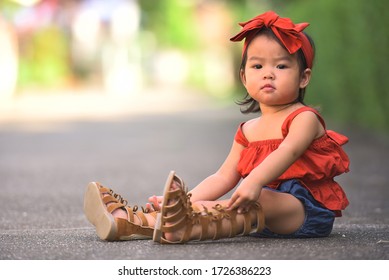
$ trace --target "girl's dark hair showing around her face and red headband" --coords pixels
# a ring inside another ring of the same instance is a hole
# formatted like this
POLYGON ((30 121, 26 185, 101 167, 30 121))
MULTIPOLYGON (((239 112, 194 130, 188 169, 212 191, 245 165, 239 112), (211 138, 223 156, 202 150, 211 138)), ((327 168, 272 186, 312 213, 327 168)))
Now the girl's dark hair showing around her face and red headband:
MULTIPOLYGON (((312 38, 308 34, 306 34, 305 32, 304 32, 304 34, 305 34, 305 36, 307 36, 307 38, 308 38, 308 40, 309 40, 309 42, 314 50, 314 53, 315 53, 315 44, 314 44, 312 38)), ((258 35, 265 35, 265 36, 271 37, 274 40, 276 40, 277 42, 279 42, 281 46, 283 46, 281 44, 280 40, 274 35, 273 31, 269 28, 261 29, 256 34, 256 36, 258 36, 258 35)), ((241 62, 240 69, 239 69, 240 73, 244 72, 244 69, 246 67, 247 49, 248 49, 248 46, 247 46, 245 52, 243 53, 242 62, 241 62)), ((301 49, 299 49, 297 51, 297 62, 299 64, 300 73, 302 74, 304 72, 304 70, 308 67, 307 67, 307 62, 306 62, 305 56, 304 56, 303 51, 301 49)), ((304 104, 304 97, 305 97, 305 88, 300 88, 299 89, 299 96, 297 97, 297 99, 295 101, 293 101, 293 103, 301 102, 302 104, 304 104)), ((246 96, 243 98, 243 100, 237 101, 236 103, 241 106, 240 111, 243 114, 257 113, 257 112, 261 111, 261 109, 259 108, 258 102, 255 99, 253 99, 248 93, 246 93, 246 96)))

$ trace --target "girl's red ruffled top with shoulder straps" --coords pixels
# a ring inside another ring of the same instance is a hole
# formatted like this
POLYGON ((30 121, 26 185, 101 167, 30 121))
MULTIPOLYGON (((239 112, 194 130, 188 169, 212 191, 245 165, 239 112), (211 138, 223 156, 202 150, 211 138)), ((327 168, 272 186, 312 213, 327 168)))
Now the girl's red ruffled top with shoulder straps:
MULTIPOLYGON (((282 135, 285 138, 293 119, 305 111, 314 112, 325 128, 320 114, 313 108, 302 107, 292 112, 282 125, 282 135)), ((268 139, 249 142, 243 134, 242 123, 235 135, 235 141, 244 146, 237 170, 242 177, 246 177, 271 152, 276 150, 283 139, 268 139)), ((268 187, 277 189, 283 181, 299 180, 312 196, 324 207, 333 210, 336 216, 341 216, 341 210, 349 204, 341 186, 334 180, 344 172, 349 171, 349 158, 343 151, 342 145, 348 142, 344 135, 331 130, 315 139, 304 154, 296 160, 280 177, 268 184, 268 187)))

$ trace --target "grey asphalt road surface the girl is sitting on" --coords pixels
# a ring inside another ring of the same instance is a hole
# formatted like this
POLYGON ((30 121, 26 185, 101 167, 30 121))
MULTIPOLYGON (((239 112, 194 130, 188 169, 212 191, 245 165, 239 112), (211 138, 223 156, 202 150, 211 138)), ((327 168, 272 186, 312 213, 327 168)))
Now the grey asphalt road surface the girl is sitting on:
POLYGON ((99 240, 82 211, 89 181, 113 188, 130 204, 160 194, 170 170, 194 186, 220 166, 238 124, 248 118, 236 106, 167 111, 0 122, 0 259, 389 259, 389 138, 332 124, 350 137, 351 172, 338 181, 351 204, 327 238, 184 245, 99 240))

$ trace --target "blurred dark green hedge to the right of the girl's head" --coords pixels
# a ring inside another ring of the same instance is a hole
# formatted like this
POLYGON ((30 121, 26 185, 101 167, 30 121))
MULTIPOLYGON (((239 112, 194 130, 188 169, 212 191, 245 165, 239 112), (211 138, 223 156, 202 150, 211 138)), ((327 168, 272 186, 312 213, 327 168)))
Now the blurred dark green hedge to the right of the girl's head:
MULTIPOLYGON (((286 2, 286 1, 285 1, 286 2)), ((280 13, 307 21, 317 49, 307 102, 344 124, 389 130, 386 0, 287 1, 280 13)))

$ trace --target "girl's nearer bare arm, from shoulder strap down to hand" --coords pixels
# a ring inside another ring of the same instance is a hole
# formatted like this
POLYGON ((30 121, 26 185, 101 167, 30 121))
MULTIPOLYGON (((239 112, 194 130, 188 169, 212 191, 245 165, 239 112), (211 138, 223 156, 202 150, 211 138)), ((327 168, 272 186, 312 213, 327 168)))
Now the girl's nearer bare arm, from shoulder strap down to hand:
POLYGON ((258 201, 262 186, 281 176, 323 133, 324 128, 313 112, 296 116, 284 141, 241 182, 228 207, 247 210, 251 203, 258 201))

